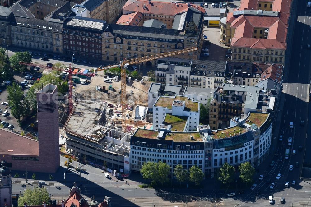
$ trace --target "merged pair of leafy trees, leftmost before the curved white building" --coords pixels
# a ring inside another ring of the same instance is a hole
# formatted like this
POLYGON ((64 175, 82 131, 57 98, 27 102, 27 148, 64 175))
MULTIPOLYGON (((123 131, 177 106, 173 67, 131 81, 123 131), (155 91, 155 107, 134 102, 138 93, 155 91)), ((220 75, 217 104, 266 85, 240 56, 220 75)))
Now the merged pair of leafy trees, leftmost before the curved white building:
POLYGON ((158 163, 150 161, 143 163, 142 168, 140 169, 142 177, 145 179, 150 179, 150 184, 151 182, 155 182, 161 183, 162 185, 169 181, 169 171, 169 165, 162 163, 161 161, 158 163))

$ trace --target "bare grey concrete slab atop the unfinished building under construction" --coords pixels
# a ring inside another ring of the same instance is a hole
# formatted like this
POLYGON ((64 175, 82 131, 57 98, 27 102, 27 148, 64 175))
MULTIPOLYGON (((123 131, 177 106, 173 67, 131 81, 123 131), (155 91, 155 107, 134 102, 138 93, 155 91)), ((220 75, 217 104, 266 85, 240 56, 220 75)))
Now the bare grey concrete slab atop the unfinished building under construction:
POLYGON ((78 102, 72 115, 68 117, 66 129, 81 136, 87 136, 90 130, 97 125, 94 121, 100 117, 99 112, 104 108, 105 104, 101 103, 78 102))

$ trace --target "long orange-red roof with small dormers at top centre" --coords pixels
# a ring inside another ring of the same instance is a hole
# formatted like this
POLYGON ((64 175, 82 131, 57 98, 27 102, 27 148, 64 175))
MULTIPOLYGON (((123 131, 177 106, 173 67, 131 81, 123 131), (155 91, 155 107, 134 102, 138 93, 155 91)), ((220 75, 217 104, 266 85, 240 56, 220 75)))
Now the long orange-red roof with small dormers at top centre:
MULTIPOLYGON (((203 13, 205 13, 205 9, 191 4, 191 6, 203 13)), ((159 2, 159 1, 152 1, 149 3, 148 0, 128 0, 125 5, 122 7, 123 13, 130 12, 141 12, 151 13, 151 14, 162 14, 162 15, 170 15, 174 16, 175 14, 185 11, 188 9, 187 3, 171 3, 171 2, 159 2), (146 8, 144 8, 146 5, 146 8)), ((173 18, 173 17, 171 17, 173 18)))

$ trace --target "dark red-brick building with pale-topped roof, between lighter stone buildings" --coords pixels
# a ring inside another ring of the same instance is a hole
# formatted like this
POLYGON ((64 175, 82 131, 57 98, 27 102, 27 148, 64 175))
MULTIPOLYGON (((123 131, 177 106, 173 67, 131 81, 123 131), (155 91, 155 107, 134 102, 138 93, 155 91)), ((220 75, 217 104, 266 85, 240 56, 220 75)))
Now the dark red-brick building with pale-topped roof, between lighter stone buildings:
POLYGON ((68 17, 63 24, 63 53, 77 59, 102 59, 103 20, 68 17))

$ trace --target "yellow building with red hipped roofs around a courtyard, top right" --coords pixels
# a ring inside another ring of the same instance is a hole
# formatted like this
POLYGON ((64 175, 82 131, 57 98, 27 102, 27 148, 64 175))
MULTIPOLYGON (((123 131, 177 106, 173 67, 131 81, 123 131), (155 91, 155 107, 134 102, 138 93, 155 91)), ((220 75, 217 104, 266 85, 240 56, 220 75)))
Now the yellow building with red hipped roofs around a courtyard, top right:
POLYGON ((221 19, 220 41, 232 49, 231 59, 284 65, 290 8, 286 0, 241 1, 221 19))

